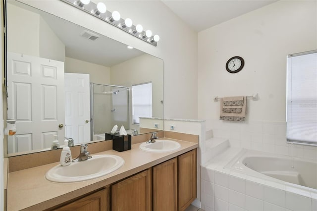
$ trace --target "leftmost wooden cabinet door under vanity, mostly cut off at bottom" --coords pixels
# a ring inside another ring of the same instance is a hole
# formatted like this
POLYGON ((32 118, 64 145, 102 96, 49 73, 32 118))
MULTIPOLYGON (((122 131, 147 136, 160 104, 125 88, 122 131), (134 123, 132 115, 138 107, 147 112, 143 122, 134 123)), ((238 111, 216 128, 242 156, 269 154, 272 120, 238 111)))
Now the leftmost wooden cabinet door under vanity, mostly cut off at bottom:
POLYGON ((107 211, 106 188, 84 198, 78 199, 56 211, 107 211))

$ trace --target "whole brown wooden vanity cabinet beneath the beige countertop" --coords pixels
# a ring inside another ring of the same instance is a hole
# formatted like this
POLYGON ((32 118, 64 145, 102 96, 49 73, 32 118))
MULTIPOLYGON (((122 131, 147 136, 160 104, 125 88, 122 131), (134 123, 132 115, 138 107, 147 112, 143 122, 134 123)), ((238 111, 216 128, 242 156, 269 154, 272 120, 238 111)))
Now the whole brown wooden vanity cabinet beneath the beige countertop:
POLYGON ((195 149, 50 210, 184 211, 196 197, 195 149))

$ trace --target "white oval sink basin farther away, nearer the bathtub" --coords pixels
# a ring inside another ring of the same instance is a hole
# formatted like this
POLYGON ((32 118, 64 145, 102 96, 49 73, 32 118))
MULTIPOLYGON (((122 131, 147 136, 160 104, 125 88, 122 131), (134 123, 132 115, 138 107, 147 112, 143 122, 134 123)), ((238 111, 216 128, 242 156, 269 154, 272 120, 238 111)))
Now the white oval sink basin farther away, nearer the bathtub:
POLYGON ((159 139, 154 143, 143 143, 139 147, 141 150, 147 152, 157 152, 157 153, 166 153, 172 152, 180 148, 180 144, 176 141, 159 139))

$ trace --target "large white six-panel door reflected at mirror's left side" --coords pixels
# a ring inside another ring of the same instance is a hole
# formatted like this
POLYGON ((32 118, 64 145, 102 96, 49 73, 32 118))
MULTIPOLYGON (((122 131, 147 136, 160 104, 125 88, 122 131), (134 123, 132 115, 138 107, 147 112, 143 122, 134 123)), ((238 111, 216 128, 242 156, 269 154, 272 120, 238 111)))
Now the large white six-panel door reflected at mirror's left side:
POLYGON ((64 140, 64 62, 7 53, 7 118, 16 119, 8 153, 51 147, 64 140))

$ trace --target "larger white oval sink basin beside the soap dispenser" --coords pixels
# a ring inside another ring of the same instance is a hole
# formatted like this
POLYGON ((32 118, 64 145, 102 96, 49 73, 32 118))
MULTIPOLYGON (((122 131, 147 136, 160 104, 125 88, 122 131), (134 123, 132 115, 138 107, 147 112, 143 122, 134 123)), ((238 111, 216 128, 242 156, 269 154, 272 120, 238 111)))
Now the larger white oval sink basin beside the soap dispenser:
POLYGON ((70 165, 56 165, 46 174, 53 182, 79 182, 109 174, 124 164, 124 159, 114 155, 95 155, 92 158, 70 165))

